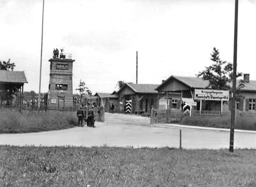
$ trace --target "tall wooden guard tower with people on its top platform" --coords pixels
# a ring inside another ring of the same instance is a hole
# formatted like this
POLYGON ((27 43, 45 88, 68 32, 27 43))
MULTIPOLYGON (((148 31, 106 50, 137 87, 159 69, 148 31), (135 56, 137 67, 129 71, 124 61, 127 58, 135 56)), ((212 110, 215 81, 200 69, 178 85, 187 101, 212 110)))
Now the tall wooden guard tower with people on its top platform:
POLYGON ((48 91, 48 106, 70 107, 73 106, 72 71, 73 62, 71 55, 66 58, 61 50, 53 50, 53 58, 49 60, 50 81, 48 91))

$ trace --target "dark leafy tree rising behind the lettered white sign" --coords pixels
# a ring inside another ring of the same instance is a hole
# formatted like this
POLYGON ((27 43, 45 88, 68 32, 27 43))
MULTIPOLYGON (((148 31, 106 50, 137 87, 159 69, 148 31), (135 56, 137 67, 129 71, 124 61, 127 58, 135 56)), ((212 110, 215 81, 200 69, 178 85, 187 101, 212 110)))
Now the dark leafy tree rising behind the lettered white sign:
MULTIPOLYGON (((207 88, 216 90, 232 90, 231 83, 233 78, 233 64, 221 60, 219 57, 219 51, 215 47, 213 48, 210 59, 213 61, 213 64, 205 67, 206 69, 203 72, 199 72, 196 76, 209 81, 207 88)), ((236 78, 240 76, 242 76, 242 73, 238 72, 236 78)), ((240 92, 243 87, 244 81, 240 80, 239 85, 236 88, 237 101, 242 98, 240 92)))

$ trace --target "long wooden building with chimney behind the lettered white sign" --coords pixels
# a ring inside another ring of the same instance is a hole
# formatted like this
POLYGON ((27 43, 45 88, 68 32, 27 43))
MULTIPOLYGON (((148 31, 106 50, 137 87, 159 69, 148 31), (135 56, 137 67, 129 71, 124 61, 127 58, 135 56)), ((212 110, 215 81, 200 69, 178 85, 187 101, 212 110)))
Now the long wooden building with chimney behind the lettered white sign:
MULTIPOLYGON (((240 101, 236 101, 236 109, 238 111, 256 111, 256 80, 250 80, 249 74, 244 74, 243 80, 245 81, 244 87, 241 89, 241 96, 243 98, 240 101)), ((238 86, 240 80, 237 80, 236 85, 238 86)), ((180 77, 180 76, 170 76, 166 81, 156 88, 158 91, 158 98, 170 95, 172 93, 181 93, 181 98, 191 98, 195 101, 195 109, 200 109, 200 101, 195 100, 195 89, 205 89, 209 85, 208 80, 203 80, 197 77, 180 77)), ((230 83, 232 86, 232 83, 230 83)), ((210 89, 210 88, 209 88, 210 89)), ((168 97, 168 96, 166 96, 168 97)), ((231 98, 230 101, 223 102, 223 111, 231 110, 231 98)), ((216 103, 216 102, 215 102, 216 103)), ((202 110, 209 109, 207 102, 203 101, 201 104, 202 110)), ((214 104, 210 107, 210 110, 221 110, 221 103, 214 104)))

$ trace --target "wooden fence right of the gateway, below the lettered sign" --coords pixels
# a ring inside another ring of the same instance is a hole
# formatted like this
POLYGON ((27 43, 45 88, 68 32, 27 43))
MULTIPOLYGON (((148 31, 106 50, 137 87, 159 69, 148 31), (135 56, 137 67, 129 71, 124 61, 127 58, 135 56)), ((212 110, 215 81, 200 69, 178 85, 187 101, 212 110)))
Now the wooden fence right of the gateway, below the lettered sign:
MULTIPOLYGON (((235 115, 256 117, 256 112, 236 112, 235 115)), ((220 112, 210 110, 192 110, 193 116, 231 116, 231 111, 220 112)), ((174 123, 180 122, 184 117, 189 117, 189 112, 175 109, 153 109, 151 111, 151 123, 174 123)))

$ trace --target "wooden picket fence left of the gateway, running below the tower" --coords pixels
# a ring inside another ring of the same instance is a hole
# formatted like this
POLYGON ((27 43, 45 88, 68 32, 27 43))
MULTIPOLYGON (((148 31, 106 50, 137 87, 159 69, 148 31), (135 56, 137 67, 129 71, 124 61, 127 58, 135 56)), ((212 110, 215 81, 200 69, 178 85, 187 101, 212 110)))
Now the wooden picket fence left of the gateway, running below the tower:
MULTIPOLYGON (((11 107, 11 106, 0 106, 1 111, 10 111, 10 112, 18 112, 22 115, 39 115, 42 113, 62 113, 75 115, 78 107, 49 107, 42 106, 38 108, 38 106, 30 106, 30 107, 11 107)), ((94 119, 98 122, 104 122, 105 120, 105 112, 104 108, 95 107, 94 109, 94 119)))

